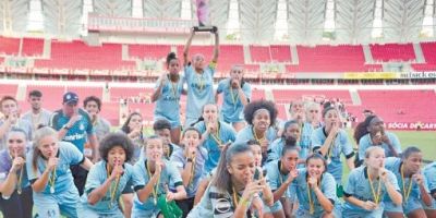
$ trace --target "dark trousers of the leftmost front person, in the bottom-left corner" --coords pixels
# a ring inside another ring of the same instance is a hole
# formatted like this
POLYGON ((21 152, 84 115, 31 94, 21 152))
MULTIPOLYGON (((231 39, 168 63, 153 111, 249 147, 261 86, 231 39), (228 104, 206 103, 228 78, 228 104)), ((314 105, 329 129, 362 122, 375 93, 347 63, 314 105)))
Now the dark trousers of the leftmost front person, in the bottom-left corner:
POLYGON ((24 187, 20 195, 15 190, 9 199, 0 196, 0 211, 4 218, 32 218, 33 206, 31 186, 24 187))

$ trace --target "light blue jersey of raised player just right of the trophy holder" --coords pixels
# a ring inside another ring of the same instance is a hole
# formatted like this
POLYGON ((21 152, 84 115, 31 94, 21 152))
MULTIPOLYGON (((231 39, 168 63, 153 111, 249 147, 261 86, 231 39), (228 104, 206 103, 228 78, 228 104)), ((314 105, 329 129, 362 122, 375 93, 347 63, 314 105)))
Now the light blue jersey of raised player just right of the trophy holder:
MULTIPOLYGON (((249 83, 244 82, 242 86, 246 99, 250 101, 252 98, 252 87, 249 83)), ((239 96, 239 90, 231 88, 230 78, 225 78, 218 83, 217 94, 222 93, 221 117, 222 121, 231 124, 234 122, 244 121, 244 105, 239 96)))

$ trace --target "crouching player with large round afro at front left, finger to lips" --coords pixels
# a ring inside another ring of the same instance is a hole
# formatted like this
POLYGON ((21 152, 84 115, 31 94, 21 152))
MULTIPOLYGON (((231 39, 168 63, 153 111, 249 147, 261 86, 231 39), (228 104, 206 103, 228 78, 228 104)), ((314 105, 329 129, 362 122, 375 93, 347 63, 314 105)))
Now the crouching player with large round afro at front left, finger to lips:
POLYGON ((133 193, 131 185, 138 180, 133 173, 133 166, 129 164, 133 152, 133 142, 125 134, 109 133, 101 140, 101 160, 89 170, 85 192, 77 205, 78 217, 131 216, 132 208, 124 205, 122 211, 119 202, 122 194, 133 193))

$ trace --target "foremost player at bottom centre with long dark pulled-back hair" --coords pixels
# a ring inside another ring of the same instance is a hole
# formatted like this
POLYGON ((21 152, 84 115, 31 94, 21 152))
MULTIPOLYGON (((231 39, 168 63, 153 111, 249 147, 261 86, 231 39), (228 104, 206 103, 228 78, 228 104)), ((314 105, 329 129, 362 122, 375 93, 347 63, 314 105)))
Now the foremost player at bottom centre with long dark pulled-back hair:
POLYGON ((252 205, 271 201, 266 195, 261 199, 259 193, 267 184, 265 178, 254 178, 255 169, 253 152, 246 143, 227 146, 210 185, 187 217, 244 218, 258 213, 259 208, 252 205))

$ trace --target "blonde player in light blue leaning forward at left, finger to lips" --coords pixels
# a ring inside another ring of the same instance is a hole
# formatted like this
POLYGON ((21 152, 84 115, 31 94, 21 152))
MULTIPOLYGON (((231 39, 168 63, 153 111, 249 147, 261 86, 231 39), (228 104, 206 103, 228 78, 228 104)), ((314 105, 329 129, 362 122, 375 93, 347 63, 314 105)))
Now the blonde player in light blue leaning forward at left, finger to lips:
POLYGON ((34 149, 26 157, 27 177, 39 217, 77 217, 78 191, 71 166, 89 170, 93 166, 73 144, 58 140, 48 126, 36 131, 34 149))

